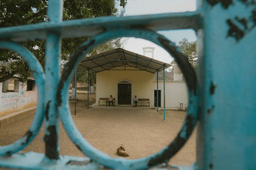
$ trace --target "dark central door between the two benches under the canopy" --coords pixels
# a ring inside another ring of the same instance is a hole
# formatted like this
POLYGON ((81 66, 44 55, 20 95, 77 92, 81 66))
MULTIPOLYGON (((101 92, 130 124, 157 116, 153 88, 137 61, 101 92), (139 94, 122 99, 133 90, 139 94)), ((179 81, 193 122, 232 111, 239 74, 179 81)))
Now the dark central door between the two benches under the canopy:
POLYGON ((118 84, 118 104, 132 104, 132 84, 118 84))

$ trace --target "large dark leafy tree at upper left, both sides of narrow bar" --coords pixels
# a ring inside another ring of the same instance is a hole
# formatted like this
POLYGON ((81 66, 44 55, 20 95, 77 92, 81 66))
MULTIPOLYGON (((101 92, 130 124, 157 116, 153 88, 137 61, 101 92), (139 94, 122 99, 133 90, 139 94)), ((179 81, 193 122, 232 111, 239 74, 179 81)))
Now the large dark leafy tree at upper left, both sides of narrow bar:
MULTIPOLYGON (((86 17, 118 15, 117 4, 125 7, 127 0, 64 0, 63 20, 86 17)), ((46 22, 48 0, 0 0, 0 27, 46 22)), ((62 39, 62 59, 67 60, 75 49, 88 37, 62 39)), ((44 66, 45 40, 23 42, 44 66)), ((24 82, 30 70, 20 56, 8 50, 0 50, 0 82, 14 74, 20 74, 24 82)))

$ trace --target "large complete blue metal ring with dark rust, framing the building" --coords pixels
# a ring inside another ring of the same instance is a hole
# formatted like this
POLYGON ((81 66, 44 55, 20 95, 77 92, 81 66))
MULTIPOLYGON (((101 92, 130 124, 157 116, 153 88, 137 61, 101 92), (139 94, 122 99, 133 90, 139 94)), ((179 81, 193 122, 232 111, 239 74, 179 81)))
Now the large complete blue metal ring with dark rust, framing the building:
POLYGON ((70 61, 63 69, 63 74, 60 79, 59 89, 57 93, 59 105, 59 114, 62 124, 70 139, 85 155, 93 161, 98 162, 112 169, 148 169, 149 167, 158 165, 168 160, 178 152, 185 144, 197 122, 198 111, 198 85, 197 77, 194 69, 191 67, 187 58, 181 53, 174 43, 165 38, 163 35, 151 32, 148 30, 111 30, 105 33, 98 34, 85 41, 71 56, 70 61), (178 135, 172 143, 156 154, 148 157, 127 160, 123 158, 114 158, 95 149, 87 142, 76 128, 70 113, 68 101, 68 87, 73 75, 73 72, 78 67, 79 62, 86 53, 91 51, 98 44, 106 42, 118 37, 137 37, 147 39, 158 44, 160 47, 168 51, 177 61, 182 70, 186 84, 188 86, 189 104, 187 115, 178 135))

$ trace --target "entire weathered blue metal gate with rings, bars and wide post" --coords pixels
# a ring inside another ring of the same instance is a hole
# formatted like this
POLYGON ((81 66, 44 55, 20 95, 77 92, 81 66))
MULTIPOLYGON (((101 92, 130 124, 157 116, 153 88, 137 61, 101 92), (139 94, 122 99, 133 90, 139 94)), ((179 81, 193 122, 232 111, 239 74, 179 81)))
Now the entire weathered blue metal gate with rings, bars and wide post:
POLYGON ((256 1, 198 0, 197 6, 195 12, 62 21, 62 0, 49 0, 48 22, 1 28, 0 48, 16 51, 27 62, 36 78, 39 98, 27 133, 13 144, 0 147, 0 167, 172 169, 165 163, 185 144, 197 123, 197 161, 190 167, 173 167, 255 170, 256 1), (175 44, 157 33, 188 28, 198 36, 197 76, 175 44), (72 53, 60 76, 61 38, 85 35, 91 38, 72 53), (98 44, 124 36, 147 39, 174 56, 189 93, 187 115, 175 140, 158 153, 135 160, 113 158, 93 148, 74 125, 68 103, 68 87, 82 57, 98 44), (33 53, 17 43, 35 39, 46 40, 45 71, 33 53), (89 158, 59 155, 59 119, 73 143, 89 158), (43 120, 45 154, 17 153, 38 134, 43 120))

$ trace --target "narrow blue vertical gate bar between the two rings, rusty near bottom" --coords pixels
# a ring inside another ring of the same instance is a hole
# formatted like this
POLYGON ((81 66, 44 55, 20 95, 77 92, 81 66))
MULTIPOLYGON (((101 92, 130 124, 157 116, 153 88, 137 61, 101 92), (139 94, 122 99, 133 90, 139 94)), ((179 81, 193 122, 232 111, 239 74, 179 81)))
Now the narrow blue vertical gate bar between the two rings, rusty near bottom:
MULTIPOLYGON (((49 0, 47 8, 48 22, 62 21, 62 0, 49 0)), ((60 37, 58 30, 49 31, 45 51, 45 156, 59 159, 59 116, 57 90, 59 85, 60 37)))

